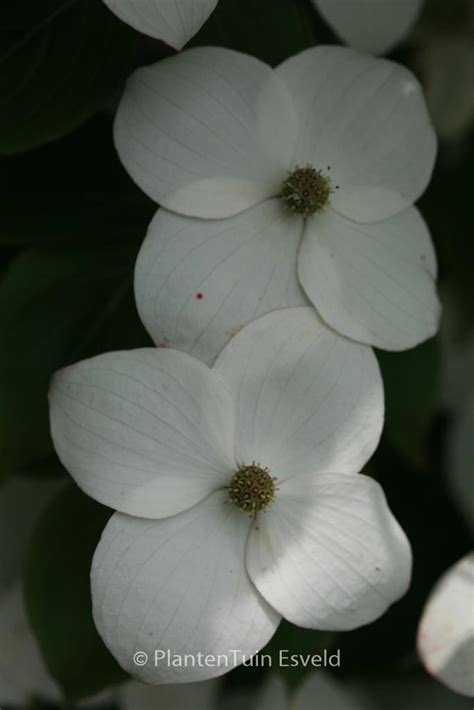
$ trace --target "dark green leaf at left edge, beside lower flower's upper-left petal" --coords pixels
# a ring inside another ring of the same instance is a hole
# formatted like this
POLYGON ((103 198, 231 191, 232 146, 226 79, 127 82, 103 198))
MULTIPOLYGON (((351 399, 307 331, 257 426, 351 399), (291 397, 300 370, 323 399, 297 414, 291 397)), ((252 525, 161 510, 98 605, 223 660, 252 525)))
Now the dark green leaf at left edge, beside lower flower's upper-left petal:
POLYGON ((0 282, 0 475, 47 466, 53 372, 149 344, 135 311, 135 249, 25 252, 0 282))

